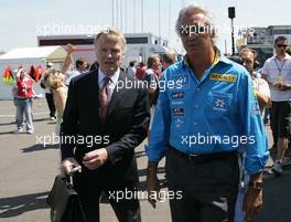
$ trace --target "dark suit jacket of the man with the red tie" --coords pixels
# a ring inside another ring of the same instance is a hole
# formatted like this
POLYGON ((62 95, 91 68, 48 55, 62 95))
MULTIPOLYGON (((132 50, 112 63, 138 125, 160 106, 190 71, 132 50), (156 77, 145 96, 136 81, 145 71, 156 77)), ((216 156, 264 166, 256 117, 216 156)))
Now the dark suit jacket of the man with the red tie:
MULTIPOLYGON (((126 81, 136 82, 120 73, 119 86, 121 82, 126 85, 126 81)), ((108 161, 96 170, 84 168, 83 173, 98 181, 101 178, 104 186, 137 182, 134 148, 147 137, 150 119, 148 91, 142 87, 122 87, 117 91, 116 87, 105 123, 99 117, 98 94, 98 71, 71 81, 61 126, 62 159, 75 157, 82 163, 86 152, 106 148, 108 161), (90 146, 93 137, 97 140, 90 146), (107 139, 100 142, 100 138, 107 139)))

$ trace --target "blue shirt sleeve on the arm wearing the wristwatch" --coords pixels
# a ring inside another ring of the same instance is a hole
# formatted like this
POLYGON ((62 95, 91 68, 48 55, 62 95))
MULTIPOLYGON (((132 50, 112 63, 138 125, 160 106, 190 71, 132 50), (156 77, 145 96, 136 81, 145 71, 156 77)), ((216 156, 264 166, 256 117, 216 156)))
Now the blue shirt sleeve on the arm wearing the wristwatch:
POLYGON ((238 83, 237 101, 239 106, 242 135, 247 137, 246 169, 250 175, 261 172, 269 158, 268 139, 260 116, 258 101, 255 97, 249 75, 242 74, 238 83))

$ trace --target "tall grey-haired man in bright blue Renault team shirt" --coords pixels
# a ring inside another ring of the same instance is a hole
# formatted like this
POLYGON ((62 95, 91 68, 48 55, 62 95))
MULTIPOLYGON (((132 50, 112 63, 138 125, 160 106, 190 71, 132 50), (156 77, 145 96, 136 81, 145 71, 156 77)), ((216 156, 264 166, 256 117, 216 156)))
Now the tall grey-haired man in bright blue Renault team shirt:
POLYGON ((147 147, 149 202, 155 207, 157 168, 166 156, 173 222, 234 221, 237 151, 246 150, 250 182, 244 211, 249 220, 262 205, 262 171, 269 155, 251 78, 215 47, 216 30, 207 11, 182 9, 176 31, 186 55, 164 72, 160 83, 164 87, 147 147))

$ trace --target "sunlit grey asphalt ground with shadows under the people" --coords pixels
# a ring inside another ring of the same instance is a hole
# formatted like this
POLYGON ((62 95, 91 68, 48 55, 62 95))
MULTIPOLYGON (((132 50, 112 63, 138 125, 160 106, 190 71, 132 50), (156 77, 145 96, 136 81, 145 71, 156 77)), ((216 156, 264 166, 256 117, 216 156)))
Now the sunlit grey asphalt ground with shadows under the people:
MULTIPOLYGON (((0 101, 0 222, 46 222, 50 221, 50 209, 45 199, 60 172, 60 149, 53 144, 43 146, 43 140, 44 136, 52 136, 55 123, 48 119, 46 102, 36 99, 33 104, 34 134, 15 134, 14 113, 11 101, 0 101)), ((268 126, 267 130, 271 144, 268 126)), ((146 188, 148 161, 144 142, 136 149, 141 191, 146 188)), ((276 156, 276 151, 272 151, 272 156, 276 156)), ((162 161, 159 168, 161 181, 164 179, 163 165, 162 161)), ((270 159, 268 166, 271 165, 270 159)), ((263 209, 254 222, 290 222, 290 165, 283 168, 281 177, 266 173, 265 178, 263 209)), ((141 200, 140 203, 142 221, 171 221, 168 200, 161 200, 157 209, 152 209, 147 200, 141 200)), ((106 200, 100 204, 100 218, 101 222, 117 221, 106 200)))

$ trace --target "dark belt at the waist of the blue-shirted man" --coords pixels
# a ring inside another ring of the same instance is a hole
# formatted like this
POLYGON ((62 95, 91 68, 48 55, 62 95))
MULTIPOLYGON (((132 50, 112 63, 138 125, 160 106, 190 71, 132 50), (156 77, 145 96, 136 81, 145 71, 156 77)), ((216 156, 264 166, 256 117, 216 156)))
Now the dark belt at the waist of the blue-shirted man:
POLYGON ((222 159, 230 159, 237 157, 237 151, 223 151, 223 152, 215 152, 215 154, 206 154, 206 155, 193 155, 193 154, 185 154, 182 152, 174 147, 171 147, 171 149, 175 155, 179 155, 180 157, 191 160, 195 163, 203 163, 208 162, 213 160, 222 160, 222 159))

